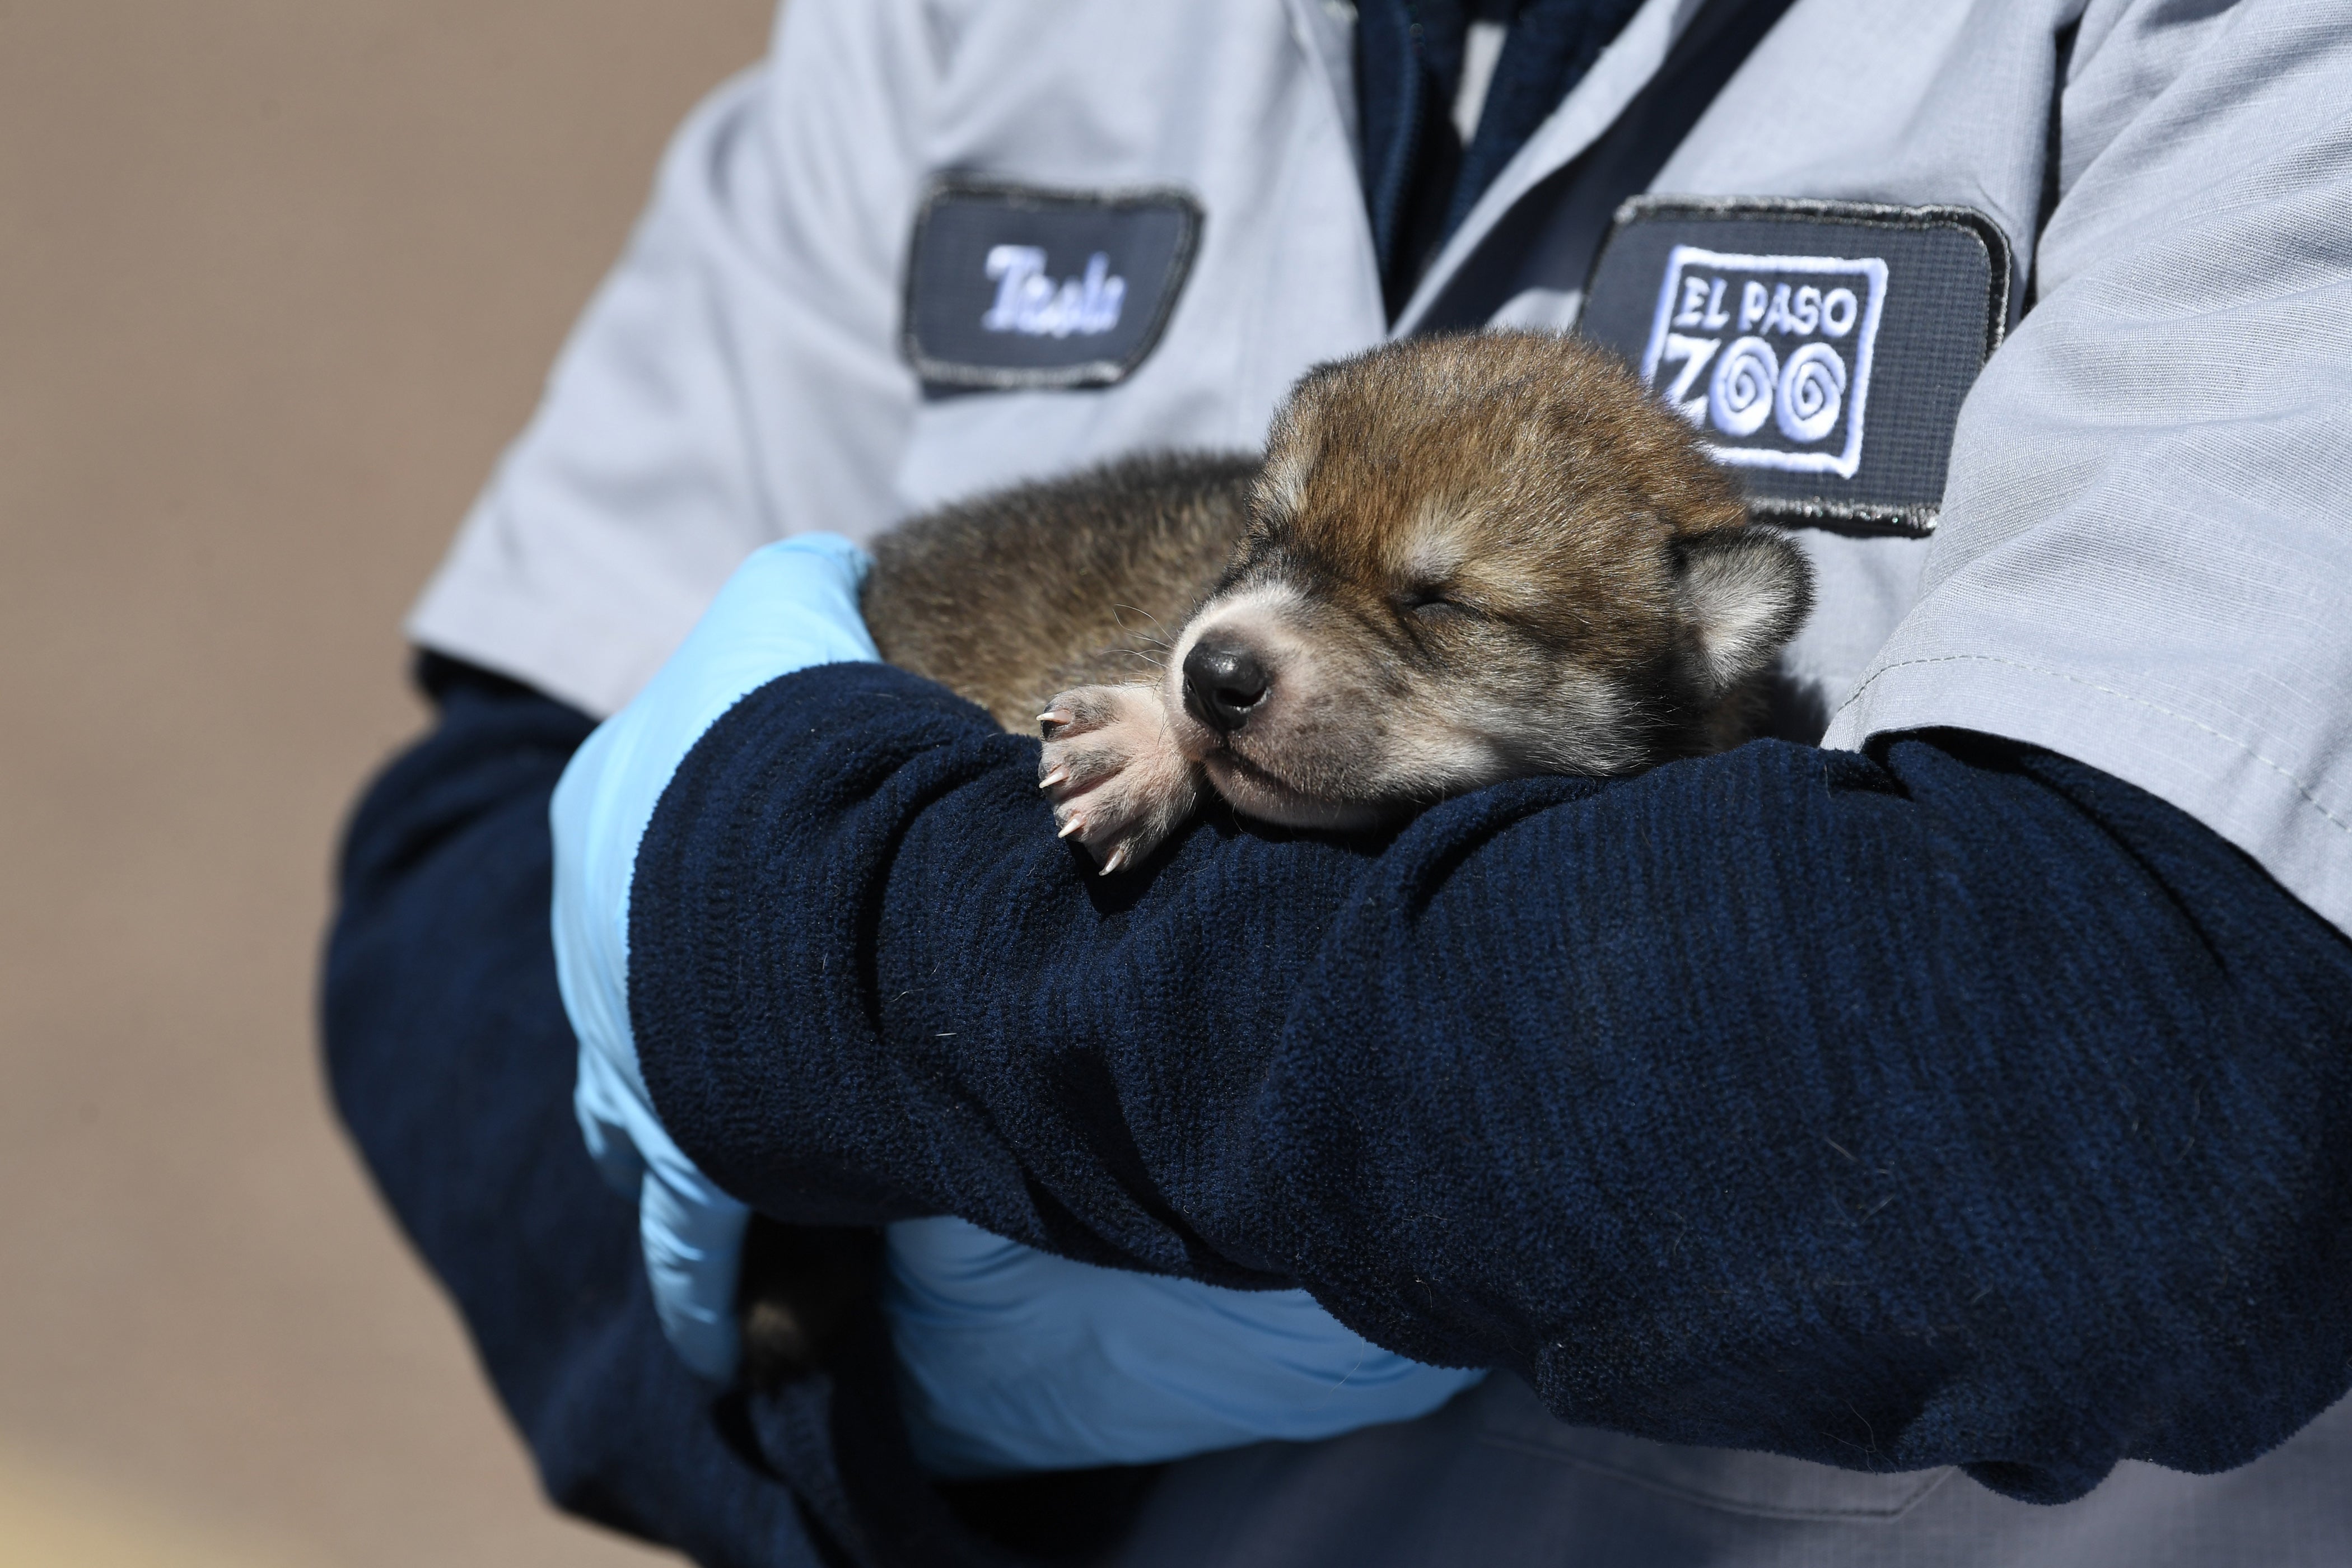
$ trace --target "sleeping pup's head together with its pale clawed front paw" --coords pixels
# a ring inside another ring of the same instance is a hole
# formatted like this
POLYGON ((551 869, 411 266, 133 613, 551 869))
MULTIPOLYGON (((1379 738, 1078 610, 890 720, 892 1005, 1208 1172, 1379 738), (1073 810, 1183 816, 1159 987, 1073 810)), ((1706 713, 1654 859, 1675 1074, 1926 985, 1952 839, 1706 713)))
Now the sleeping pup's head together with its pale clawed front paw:
POLYGON ((1040 788, 1110 872, 1202 788, 1352 827, 1719 750, 1811 599, 1797 548, 1743 524, 1691 425, 1588 343, 1416 339, 1329 364, 1275 418, 1249 529, 1160 679, 1054 698, 1040 788), (1211 670, 1235 661, 1247 717, 1218 719, 1209 691, 1235 689, 1211 670))

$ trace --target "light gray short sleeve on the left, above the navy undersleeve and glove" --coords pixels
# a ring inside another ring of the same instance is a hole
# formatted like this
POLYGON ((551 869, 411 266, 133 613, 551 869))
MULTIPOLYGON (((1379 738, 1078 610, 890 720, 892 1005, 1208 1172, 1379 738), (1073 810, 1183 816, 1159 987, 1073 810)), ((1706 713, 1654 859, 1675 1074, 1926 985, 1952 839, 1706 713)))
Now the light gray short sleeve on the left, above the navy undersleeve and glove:
POLYGON ((929 73, 910 0, 786 7, 769 61, 677 132, 414 642, 602 717, 755 548, 891 520, 929 73))

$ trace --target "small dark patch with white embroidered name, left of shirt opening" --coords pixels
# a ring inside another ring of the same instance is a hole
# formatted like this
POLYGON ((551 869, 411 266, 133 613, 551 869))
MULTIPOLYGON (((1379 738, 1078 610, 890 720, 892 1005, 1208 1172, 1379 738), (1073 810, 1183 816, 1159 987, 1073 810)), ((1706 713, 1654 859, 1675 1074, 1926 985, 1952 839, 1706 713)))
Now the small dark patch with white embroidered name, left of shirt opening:
POLYGON ((941 181, 915 216, 906 357, 931 388, 1110 386, 1160 343, 1197 244, 1183 190, 941 181))

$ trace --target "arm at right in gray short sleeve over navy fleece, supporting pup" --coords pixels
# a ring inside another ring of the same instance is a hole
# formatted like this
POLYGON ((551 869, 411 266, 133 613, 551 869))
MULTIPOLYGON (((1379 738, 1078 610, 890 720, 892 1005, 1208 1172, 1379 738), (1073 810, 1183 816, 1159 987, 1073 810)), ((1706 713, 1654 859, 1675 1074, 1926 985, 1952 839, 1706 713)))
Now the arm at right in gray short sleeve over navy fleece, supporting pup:
POLYGON ((2284 1436, 2345 1366, 2347 49, 2084 12, 2037 303, 1832 729, 1877 762, 1517 785, 1383 860, 1209 830, 1117 891, 1023 743, 811 675, 656 816, 656 1105, 755 1197, 1298 1276, 1658 1436, 2020 1495, 2284 1436))

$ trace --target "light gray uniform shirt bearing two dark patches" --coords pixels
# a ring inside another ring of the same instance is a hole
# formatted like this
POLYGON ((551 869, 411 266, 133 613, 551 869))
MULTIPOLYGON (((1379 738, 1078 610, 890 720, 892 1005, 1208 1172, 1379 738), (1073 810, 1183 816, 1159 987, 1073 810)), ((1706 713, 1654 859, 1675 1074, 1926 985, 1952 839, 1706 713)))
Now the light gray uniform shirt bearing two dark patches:
MULTIPOLYGON (((1143 447, 1256 447, 1298 371, 1446 320, 1515 235, 1541 244, 1484 315, 1566 329, 1609 212, 1515 219, 1656 103, 1708 16, 1649 0, 1390 327, 1343 5, 793 0, 771 59, 680 132, 409 630, 602 715, 760 543, 1143 447), (950 174, 1190 197, 1190 266, 1122 378, 924 388, 910 247, 950 174)), ((1797 534, 1820 607, 1788 675, 1825 741, 1950 724, 2067 752, 2352 931, 2347 87, 2343 0, 1795 0, 1644 183, 1971 209, 2030 301, 1959 404, 1933 531, 1797 534)), ((1423 1563, 1446 1540, 1486 1561, 2352 1561, 2347 1448, 2338 1408, 2232 1476, 2126 1465, 2025 1509, 1957 1476, 1581 1434, 1498 1380, 1428 1422, 1183 1467, 1162 1495, 1192 1502, 1138 1561, 1423 1563)))

